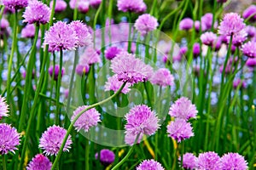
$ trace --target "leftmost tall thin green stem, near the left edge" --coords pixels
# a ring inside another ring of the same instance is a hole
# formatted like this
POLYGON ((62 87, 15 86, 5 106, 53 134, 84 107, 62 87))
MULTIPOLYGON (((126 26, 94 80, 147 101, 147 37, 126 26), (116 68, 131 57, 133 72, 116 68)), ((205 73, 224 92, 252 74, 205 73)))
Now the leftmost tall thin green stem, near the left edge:
POLYGON ((18 11, 15 10, 15 21, 14 21, 14 34, 13 34, 13 43, 12 43, 12 49, 11 49, 11 54, 9 55, 9 65, 8 65, 8 75, 7 75, 7 101, 10 101, 11 98, 11 71, 12 71, 12 65, 13 65, 13 59, 15 56, 15 47, 17 46, 17 34, 18 34, 18 11))

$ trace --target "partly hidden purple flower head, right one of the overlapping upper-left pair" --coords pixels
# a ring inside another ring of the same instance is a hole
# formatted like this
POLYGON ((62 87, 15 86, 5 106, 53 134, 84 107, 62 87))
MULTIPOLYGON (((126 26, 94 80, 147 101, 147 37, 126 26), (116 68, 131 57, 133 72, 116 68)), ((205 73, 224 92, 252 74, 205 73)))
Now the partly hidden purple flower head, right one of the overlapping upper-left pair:
POLYGON ((73 20, 70 26, 76 32, 77 37, 79 37, 79 42, 76 44, 78 47, 84 47, 92 44, 92 37, 90 35, 87 26, 80 20, 73 20))

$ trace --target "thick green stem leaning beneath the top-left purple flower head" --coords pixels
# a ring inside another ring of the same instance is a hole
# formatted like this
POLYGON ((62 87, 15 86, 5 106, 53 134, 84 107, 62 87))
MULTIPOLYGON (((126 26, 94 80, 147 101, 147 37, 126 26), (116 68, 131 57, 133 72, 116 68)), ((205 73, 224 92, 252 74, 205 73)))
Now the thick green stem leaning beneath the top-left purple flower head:
POLYGON ((25 82, 25 90, 24 90, 24 97, 22 102, 22 108, 20 113, 20 122, 19 122, 19 131, 21 131, 25 125, 26 122, 26 111, 28 106, 28 100, 30 97, 30 92, 32 88, 32 70, 33 65, 35 63, 35 57, 37 52, 37 42, 38 42, 38 32, 39 32, 39 26, 36 26, 36 32, 35 32, 35 38, 32 45, 32 53, 29 56, 28 64, 26 68, 26 82, 25 82))

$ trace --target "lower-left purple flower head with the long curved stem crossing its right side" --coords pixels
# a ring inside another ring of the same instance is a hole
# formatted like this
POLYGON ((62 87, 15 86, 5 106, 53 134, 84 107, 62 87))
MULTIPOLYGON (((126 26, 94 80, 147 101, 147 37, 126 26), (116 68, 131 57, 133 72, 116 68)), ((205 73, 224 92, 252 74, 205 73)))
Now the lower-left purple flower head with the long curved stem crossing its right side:
MULTIPOLYGON (((62 141, 67 133, 67 130, 63 127, 52 126, 48 127, 39 139, 39 148, 44 150, 46 156, 57 155, 61 148, 62 141)), ((69 151, 72 144, 71 136, 68 135, 67 142, 63 148, 63 151, 69 151)))

